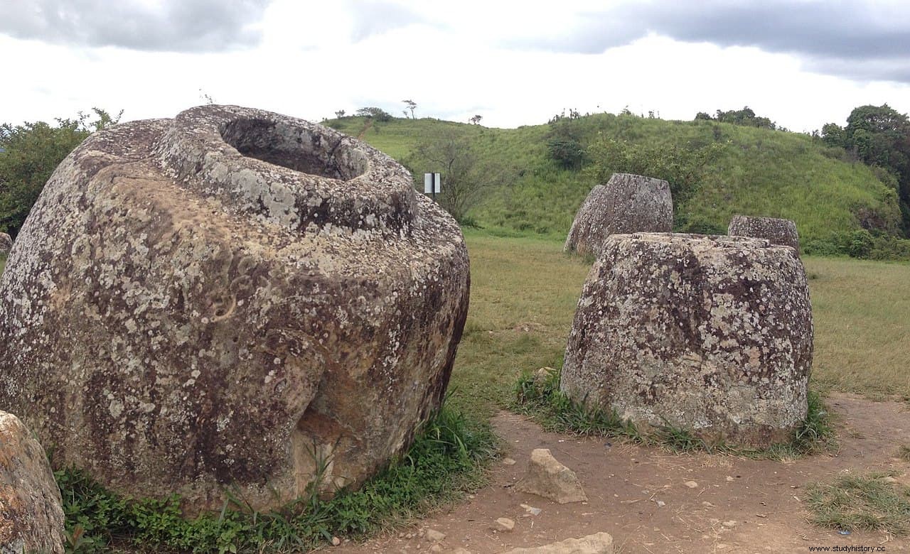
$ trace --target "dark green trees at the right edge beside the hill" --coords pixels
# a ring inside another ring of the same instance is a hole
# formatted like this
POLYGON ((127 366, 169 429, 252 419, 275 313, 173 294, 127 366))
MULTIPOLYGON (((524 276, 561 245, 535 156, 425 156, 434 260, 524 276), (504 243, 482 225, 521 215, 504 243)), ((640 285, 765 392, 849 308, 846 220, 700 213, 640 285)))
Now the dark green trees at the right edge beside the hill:
POLYGON ((910 234, 910 120, 892 107, 859 106, 850 112, 847 125, 828 123, 821 139, 839 146, 884 173, 886 185, 897 191, 905 235, 910 234))

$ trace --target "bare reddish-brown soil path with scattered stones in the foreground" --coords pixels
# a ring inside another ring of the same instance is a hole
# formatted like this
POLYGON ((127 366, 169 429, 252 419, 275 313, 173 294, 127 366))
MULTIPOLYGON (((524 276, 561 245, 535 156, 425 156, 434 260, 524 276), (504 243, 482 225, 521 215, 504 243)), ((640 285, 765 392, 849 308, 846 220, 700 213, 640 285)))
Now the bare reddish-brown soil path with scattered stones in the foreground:
POLYGON ((493 423, 508 443, 505 456, 518 463, 497 462, 488 487, 411 529, 364 544, 345 541, 331 550, 428 552, 434 543, 427 539, 427 529, 446 535, 436 551, 461 548, 478 554, 600 531, 610 533, 623 553, 808 552, 813 546, 845 545, 873 547, 867 550, 872 552, 910 550, 907 539, 863 531, 844 536, 806 521, 804 486, 841 471, 897 470, 897 479, 910 484, 910 464, 896 458, 897 448, 910 444, 905 404, 846 394, 833 394, 826 403, 839 418, 837 451, 784 462, 676 455, 603 438, 573 438, 543 432, 527 418, 503 412, 493 423), (512 490, 533 448, 550 448, 572 468, 588 502, 559 505, 512 490), (690 488, 687 481, 698 486, 690 488), (531 515, 522 504, 541 511, 531 515), (490 529, 502 517, 515 521, 512 531, 490 529))

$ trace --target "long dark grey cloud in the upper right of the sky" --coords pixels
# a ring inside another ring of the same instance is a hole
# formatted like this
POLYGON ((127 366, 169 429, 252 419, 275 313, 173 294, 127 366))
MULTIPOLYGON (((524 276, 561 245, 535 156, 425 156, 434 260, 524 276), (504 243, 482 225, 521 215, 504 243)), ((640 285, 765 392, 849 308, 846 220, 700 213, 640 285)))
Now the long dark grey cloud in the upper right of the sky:
POLYGON ((567 33, 522 45, 584 54, 649 33, 684 42, 755 46, 804 58, 811 70, 910 82, 910 5, 765 0, 699 4, 667 0, 580 15, 567 33))

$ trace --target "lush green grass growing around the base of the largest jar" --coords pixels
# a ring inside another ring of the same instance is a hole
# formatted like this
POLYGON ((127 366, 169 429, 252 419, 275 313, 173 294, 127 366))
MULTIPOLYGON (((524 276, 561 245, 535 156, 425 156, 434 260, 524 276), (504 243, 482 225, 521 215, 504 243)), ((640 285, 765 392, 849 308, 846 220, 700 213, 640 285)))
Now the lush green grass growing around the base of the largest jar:
POLYGON ((442 408, 407 454, 358 491, 329 500, 311 493, 274 513, 231 496, 218 513, 185 519, 177 497, 120 497, 75 469, 56 472, 64 499, 67 550, 148 552, 299 552, 332 537, 357 539, 391 529, 484 482, 495 453, 486 424, 442 408))

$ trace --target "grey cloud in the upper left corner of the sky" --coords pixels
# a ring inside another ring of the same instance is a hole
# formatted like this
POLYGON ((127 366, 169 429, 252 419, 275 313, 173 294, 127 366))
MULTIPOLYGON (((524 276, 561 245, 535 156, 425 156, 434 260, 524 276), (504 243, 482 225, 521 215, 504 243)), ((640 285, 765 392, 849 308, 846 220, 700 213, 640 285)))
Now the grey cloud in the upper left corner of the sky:
POLYGON ((136 0, 0 2, 0 33, 85 46, 166 52, 217 52, 256 45, 268 0, 136 0))

